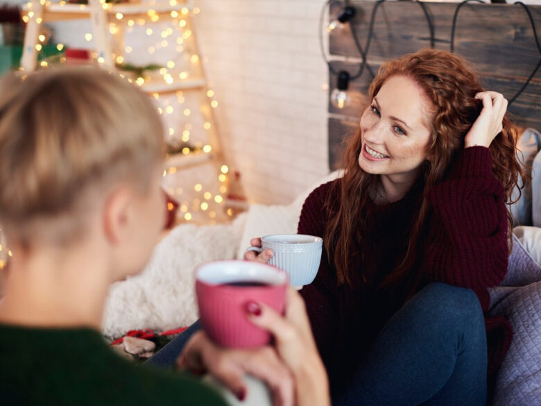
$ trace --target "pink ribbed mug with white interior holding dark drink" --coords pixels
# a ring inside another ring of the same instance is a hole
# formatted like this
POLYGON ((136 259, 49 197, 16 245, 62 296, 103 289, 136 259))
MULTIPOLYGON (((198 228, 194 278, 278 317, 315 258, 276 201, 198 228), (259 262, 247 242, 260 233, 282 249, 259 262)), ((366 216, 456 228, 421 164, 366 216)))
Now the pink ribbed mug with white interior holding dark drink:
POLYGON ((283 314, 288 279, 268 264, 251 261, 216 261, 196 269, 199 317, 209 337, 223 347, 263 346, 271 335, 250 323, 246 304, 266 303, 283 314))

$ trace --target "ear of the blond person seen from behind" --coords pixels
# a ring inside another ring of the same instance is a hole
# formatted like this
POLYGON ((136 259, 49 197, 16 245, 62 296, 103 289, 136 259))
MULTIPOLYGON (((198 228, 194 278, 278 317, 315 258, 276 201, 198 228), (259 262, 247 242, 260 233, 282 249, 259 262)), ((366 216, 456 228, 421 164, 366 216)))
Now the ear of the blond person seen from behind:
POLYGON ((130 232, 130 205, 133 199, 130 187, 114 189, 103 205, 103 232, 112 244, 119 244, 130 232))

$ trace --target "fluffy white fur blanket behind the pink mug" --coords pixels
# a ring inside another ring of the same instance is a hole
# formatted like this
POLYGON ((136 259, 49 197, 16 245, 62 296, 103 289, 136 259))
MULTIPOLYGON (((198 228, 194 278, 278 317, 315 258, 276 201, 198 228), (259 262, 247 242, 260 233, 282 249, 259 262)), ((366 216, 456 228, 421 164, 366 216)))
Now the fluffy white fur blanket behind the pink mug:
POLYGON ((128 330, 162 331, 196 321, 194 269, 203 262, 234 258, 245 221, 246 214, 240 214, 232 223, 182 224, 171 230, 142 273, 112 285, 103 334, 121 337, 128 330))

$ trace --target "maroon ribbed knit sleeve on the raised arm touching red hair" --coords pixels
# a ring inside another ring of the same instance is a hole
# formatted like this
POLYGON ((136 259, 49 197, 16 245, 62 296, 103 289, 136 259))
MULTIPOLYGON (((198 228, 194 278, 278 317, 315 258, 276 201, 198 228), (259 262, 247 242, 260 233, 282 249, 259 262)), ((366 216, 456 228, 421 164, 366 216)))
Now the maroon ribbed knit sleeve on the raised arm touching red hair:
POLYGON ((490 151, 482 146, 462 151, 447 180, 428 198, 433 218, 427 273, 473 289, 487 310, 486 289, 504 279, 508 262, 504 188, 492 175, 490 151))

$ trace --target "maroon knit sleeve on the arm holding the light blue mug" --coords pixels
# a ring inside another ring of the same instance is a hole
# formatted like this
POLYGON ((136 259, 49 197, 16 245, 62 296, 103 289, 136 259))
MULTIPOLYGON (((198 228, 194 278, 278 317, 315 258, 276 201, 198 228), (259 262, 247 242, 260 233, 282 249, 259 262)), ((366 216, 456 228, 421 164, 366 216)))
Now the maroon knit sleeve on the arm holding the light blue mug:
MULTIPOLYGON (((302 205, 298 224, 298 234, 315 235, 325 239, 325 227, 328 215, 325 209, 327 196, 331 193, 332 185, 336 182, 325 183, 314 189, 302 205)), ((325 243, 324 243, 325 247, 325 243)), ((328 353, 336 332, 336 282, 329 271, 329 261, 325 248, 321 255, 318 275, 314 282, 300 290, 306 303, 312 332, 322 357, 328 353)))

